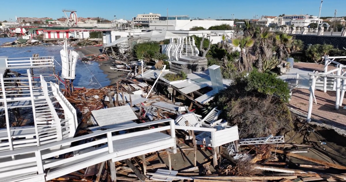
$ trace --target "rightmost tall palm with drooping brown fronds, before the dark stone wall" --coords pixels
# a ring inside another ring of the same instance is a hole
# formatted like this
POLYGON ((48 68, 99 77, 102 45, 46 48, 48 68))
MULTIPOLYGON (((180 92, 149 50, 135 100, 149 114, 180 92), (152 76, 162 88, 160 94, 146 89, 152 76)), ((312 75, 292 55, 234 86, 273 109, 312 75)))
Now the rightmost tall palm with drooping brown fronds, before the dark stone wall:
POLYGON ((279 59, 282 60, 285 57, 288 57, 288 54, 291 52, 290 47, 292 45, 292 36, 282 33, 280 35, 275 35, 276 44, 279 51, 279 59))

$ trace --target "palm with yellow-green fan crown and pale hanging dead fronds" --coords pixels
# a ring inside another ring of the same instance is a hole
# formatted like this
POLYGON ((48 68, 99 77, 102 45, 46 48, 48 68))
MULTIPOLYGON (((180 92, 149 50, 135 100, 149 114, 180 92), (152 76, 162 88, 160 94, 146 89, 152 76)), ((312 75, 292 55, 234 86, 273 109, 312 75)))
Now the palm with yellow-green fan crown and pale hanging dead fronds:
POLYGON ((232 40, 232 44, 236 47, 240 48, 240 57, 238 61, 238 70, 240 72, 243 71, 251 71, 252 70, 252 58, 249 53, 249 48, 254 45, 254 40, 251 36, 235 38, 232 40))

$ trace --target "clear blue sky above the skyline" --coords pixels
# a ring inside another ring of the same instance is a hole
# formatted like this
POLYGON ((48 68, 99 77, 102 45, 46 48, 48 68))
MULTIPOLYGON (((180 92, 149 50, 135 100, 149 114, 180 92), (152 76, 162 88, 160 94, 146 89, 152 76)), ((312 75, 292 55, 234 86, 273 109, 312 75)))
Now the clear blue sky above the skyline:
MULTIPOLYGON (((253 18, 254 15, 309 14, 318 16, 320 0, 15 0, 16 6, 2 6, 0 20, 15 17, 62 17, 62 9, 75 9, 79 17, 132 19, 137 14, 160 13, 199 18, 253 18), (18 5, 18 6, 17 6, 18 5), (302 10, 301 10, 302 9, 302 10)), ((321 16, 346 16, 346 0, 324 0, 321 16)))

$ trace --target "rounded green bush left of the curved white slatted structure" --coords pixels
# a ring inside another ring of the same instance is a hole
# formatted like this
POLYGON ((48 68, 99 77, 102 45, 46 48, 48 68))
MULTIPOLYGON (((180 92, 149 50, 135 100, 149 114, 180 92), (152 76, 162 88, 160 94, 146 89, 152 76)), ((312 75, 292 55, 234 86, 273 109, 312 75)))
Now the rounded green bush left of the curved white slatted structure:
POLYGON ((155 55, 160 52, 159 42, 143 42, 133 47, 133 53, 137 59, 144 59, 145 53, 155 55))

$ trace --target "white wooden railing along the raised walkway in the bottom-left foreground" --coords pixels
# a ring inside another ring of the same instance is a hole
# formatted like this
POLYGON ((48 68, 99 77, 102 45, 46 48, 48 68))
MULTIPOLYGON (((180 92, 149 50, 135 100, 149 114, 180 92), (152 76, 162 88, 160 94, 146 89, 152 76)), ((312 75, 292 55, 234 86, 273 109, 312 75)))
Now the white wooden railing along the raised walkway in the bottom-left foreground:
MULTIPOLYGON (((171 138, 173 138, 173 141, 175 142, 175 127, 176 126, 174 124, 174 120, 164 119, 164 120, 158 120, 153 122, 141 123, 136 125, 135 127, 118 127, 118 128, 113 128, 113 129, 108 129, 103 131, 96 131, 88 135, 84 135, 84 136, 80 136, 76 138, 69 138, 69 139, 61 140, 61 141, 55 141, 55 142, 41 145, 38 147, 37 146, 29 147, 29 148, 17 149, 14 151, 1 151, 0 158, 2 159, 0 160, 1 161, 0 166, 7 167, 7 169, 10 169, 10 170, 9 171, 5 170, 5 172, 3 172, 0 167, 0 175, 2 177, 7 177, 7 176, 16 175, 16 174, 24 174, 24 173, 44 174, 44 171, 47 168, 51 168, 52 170, 52 168, 60 166, 62 164, 66 164, 66 163, 70 164, 73 161, 88 159, 88 157, 94 156, 94 155, 99 156, 99 158, 90 159, 94 161, 93 163, 88 163, 88 161, 85 161, 85 162, 82 162, 78 168, 72 169, 76 171, 76 170, 88 167, 90 165, 98 164, 102 161, 107 161, 109 159, 119 157, 117 154, 118 151, 114 151, 114 148, 113 148, 113 141, 116 141, 116 140, 135 137, 135 136, 142 136, 149 133, 160 132, 164 130, 171 130, 171 138), (137 131, 137 132, 131 132, 131 133, 112 136, 112 134, 117 131, 147 127, 149 125, 161 124, 166 122, 170 122, 170 125, 167 125, 164 127, 158 127, 154 129, 148 129, 143 131, 137 131), (98 137, 101 139, 94 140, 95 137, 98 137), (51 149, 59 148, 61 146, 66 146, 66 144, 71 144, 72 142, 79 142, 81 140, 85 140, 85 141, 91 140, 91 141, 84 144, 77 145, 77 146, 72 146, 69 148, 51 150, 51 149), (100 145, 102 146, 100 147, 100 145), (88 149, 90 147, 95 147, 95 149, 89 150, 82 154, 78 154, 79 151, 82 151, 83 149, 88 149), (78 155, 73 155, 71 157, 64 158, 64 159, 50 159, 52 157, 68 154, 71 152, 74 152, 75 154, 78 154, 78 155), (26 154, 32 154, 32 155, 26 155, 26 154), (16 159, 16 156, 20 156, 20 155, 26 155, 29 157, 26 157, 26 158, 18 157, 18 159, 16 159), (14 160, 6 159, 11 156, 15 156, 13 157, 14 160)), ((145 148, 145 146, 143 147, 145 148)), ((171 147, 173 147, 172 149, 173 153, 176 153, 175 144, 174 146, 172 145, 171 147)), ((134 153, 134 155, 136 155, 136 153, 134 153)), ((126 157, 130 158, 135 156, 126 155, 126 157)), ((65 175, 70 172, 71 171, 66 171, 66 170, 64 171, 64 169, 62 168, 61 170, 58 171, 58 173, 52 174, 52 175, 49 175, 49 177, 46 177, 46 180, 53 179, 56 176, 58 177, 61 175, 65 175)))

